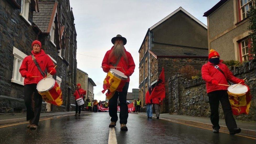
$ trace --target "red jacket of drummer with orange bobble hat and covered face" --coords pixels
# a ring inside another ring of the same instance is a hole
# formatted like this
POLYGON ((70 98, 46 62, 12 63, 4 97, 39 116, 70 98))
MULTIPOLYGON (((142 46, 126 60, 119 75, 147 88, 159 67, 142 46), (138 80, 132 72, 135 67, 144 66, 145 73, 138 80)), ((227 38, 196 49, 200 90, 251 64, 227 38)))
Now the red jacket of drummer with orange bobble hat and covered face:
POLYGON ((229 68, 222 63, 223 60, 220 60, 220 63, 217 64, 219 68, 225 73, 225 76, 215 68, 210 62, 204 64, 202 66, 202 78, 206 81, 206 91, 207 93, 216 91, 216 90, 227 90, 227 86, 214 85, 211 83, 212 79, 218 81, 219 84, 228 84, 228 81, 233 83, 239 83, 242 80, 233 76, 233 73, 229 70, 229 68), (227 79, 226 79, 227 78, 227 79))

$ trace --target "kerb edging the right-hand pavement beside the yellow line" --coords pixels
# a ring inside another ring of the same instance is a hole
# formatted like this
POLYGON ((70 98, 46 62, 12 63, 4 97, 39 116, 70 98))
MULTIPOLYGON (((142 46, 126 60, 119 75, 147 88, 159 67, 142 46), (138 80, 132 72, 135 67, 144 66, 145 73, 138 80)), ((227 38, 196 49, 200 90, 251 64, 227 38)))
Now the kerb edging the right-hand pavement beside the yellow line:
MULTIPOLYGON (((145 114, 139 114, 139 115, 147 116, 145 114)), ((153 116, 153 117, 155 117, 155 116, 153 116)), ((199 128, 203 128, 203 129, 212 130, 212 124, 209 124, 209 123, 198 122, 198 121, 190 121, 190 120, 184 120, 184 119, 177 119, 177 118, 170 118, 170 117, 164 117, 164 116, 159 116, 159 119, 170 121, 170 122, 175 122, 175 123, 179 123, 179 124, 184 124, 184 125, 195 126, 195 127, 199 127, 199 128), (168 119, 166 119, 166 118, 168 118, 168 119)), ((220 127, 221 127, 220 132, 224 132, 224 133, 229 134, 228 128, 226 126, 220 125, 220 127)), ((246 137, 250 137, 250 138, 255 139, 256 138, 256 131, 255 130, 248 130, 248 129, 241 129, 241 132, 239 134, 236 134, 236 135, 246 136, 246 137)))

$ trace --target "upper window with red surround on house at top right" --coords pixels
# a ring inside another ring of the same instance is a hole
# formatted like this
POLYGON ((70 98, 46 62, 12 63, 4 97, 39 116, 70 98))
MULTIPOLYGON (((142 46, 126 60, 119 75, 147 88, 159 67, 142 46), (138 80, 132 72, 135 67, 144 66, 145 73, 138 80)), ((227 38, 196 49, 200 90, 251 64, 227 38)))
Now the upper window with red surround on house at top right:
POLYGON ((241 20, 248 17, 248 12, 253 7, 252 0, 240 0, 240 13, 241 13, 241 20))

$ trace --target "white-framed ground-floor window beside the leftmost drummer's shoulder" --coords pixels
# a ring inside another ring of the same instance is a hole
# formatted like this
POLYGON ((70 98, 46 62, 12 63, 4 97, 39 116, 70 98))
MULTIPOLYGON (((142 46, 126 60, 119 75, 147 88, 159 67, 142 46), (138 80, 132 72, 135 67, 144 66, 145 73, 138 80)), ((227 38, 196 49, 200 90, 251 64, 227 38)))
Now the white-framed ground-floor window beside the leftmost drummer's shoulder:
POLYGON ((13 74, 12 74, 11 82, 24 86, 24 78, 21 76, 19 69, 22 64, 22 61, 27 55, 24 54, 22 51, 18 50, 16 47, 13 47, 13 55, 14 55, 13 74))

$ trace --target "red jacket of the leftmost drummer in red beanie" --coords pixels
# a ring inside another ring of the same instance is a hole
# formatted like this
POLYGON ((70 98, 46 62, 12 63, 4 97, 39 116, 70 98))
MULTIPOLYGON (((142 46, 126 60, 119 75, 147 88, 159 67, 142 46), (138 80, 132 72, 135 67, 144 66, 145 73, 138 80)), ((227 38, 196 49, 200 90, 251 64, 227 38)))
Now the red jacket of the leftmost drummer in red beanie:
MULTIPOLYGON (((45 54, 44 50, 40 50, 39 53, 34 53, 33 50, 31 53, 35 56, 36 61, 38 62, 41 70, 44 72, 45 69, 47 69, 48 73, 51 71, 49 69, 54 68, 54 63, 52 62, 51 58, 45 54)), ((34 61, 32 60, 31 55, 26 56, 24 60, 22 61, 22 64, 20 66, 20 74, 22 77, 24 77, 24 85, 26 84, 37 84, 41 79, 43 79, 42 74, 36 67, 34 61), (26 74, 30 73, 33 76, 39 76, 39 77, 32 77, 31 79, 26 78, 26 74)), ((47 74, 47 73, 46 73, 47 74)), ((51 73, 54 75, 55 73, 51 73)))

